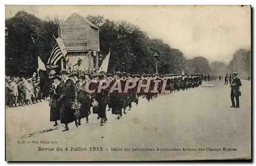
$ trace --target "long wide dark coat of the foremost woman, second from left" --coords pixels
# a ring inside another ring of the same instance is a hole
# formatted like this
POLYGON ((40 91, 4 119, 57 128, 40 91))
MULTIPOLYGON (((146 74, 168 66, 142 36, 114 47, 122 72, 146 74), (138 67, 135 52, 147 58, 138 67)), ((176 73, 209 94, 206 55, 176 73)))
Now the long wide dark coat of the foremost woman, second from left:
POLYGON ((76 120, 75 110, 71 109, 75 100, 75 83, 70 78, 62 84, 60 102, 60 123, 68 124, 76 120))

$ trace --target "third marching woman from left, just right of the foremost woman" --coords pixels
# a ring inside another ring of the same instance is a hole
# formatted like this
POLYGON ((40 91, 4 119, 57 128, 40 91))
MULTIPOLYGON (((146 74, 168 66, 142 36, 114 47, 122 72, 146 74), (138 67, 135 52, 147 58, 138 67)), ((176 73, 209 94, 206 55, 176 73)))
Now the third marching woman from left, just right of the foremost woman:
POLYGON ((86 92, 86 79, 85 75, 79 76, 79 82, 76 84, 77 90, 77 102, 81 104, 80 115, 78 116, 78 126, 81 125, 81 119, 86 118, 86 123, 89 123, 89 110, 90 110, 90 98, 89 93, 86 92))

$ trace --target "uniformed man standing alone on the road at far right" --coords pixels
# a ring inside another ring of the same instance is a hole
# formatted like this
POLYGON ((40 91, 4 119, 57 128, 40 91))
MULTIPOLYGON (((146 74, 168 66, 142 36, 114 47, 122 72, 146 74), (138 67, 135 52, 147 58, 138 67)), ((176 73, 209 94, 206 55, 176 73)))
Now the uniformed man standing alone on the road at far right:
POLYGON ((242 86, 242 83, 238 78, 238 72, 233 72, 233 80, 229 86, 231 87, 230 97, 232 102, 230 107, 239 108, 239 96, 241 96, 240 86, 242 86), (234 97, 236 97, 237 105, 234 103, 234 97))

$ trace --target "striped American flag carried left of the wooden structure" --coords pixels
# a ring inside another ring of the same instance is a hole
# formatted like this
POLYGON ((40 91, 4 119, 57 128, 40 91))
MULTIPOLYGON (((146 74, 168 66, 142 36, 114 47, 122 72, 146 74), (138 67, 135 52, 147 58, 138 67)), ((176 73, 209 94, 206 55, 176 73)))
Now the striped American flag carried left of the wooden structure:
POLYGON ((51 51, 51 56, 50 58, 48 59, 48 64, 53 64, 53 65, 56 65, 57 62, 59 60, 61 60, 62 58, 65 58, 67 63, 69 63, 69 57, 68 57, 68 54, 66 55, 63 55, 63 53, 61 52, 58 44, 55 44, 55 46, 53 47, 52 51, 51 51))

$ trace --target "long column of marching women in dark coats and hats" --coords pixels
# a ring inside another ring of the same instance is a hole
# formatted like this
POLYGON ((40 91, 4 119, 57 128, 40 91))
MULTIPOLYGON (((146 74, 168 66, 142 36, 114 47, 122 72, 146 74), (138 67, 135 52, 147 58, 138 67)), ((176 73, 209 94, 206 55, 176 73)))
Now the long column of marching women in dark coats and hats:
POLYGON ((97 114, 99 124, 103 126, 108 121, 107 106, 108 111, 119 120, 127 110, 132 109, 132 103, 137 106, 139 100, 151 102, 161 95, 199 87, 202 85, 203 76, 139 75, 125 72, 90 75, 63 70, 60 75, 51 76, 51 79, 50 121, 56 126, 60 120, 60 123, 65 124, 63 131, 68 131, 70 123, 74 122, 76 127, 79 127, 81 121, 85 120, 88 124, 93 114, 97 114))

